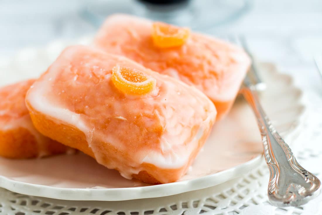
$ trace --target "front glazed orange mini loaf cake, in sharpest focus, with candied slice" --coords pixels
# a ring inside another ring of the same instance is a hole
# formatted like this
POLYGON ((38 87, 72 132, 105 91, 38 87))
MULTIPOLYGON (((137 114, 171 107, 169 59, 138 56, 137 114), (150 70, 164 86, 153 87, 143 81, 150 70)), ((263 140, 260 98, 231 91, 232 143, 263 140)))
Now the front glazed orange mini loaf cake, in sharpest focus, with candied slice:
POLYGON ((89 46, 66 48, 33 86, 41 133, 151 184, 185 174, 216 117, 195 87, 89 46))

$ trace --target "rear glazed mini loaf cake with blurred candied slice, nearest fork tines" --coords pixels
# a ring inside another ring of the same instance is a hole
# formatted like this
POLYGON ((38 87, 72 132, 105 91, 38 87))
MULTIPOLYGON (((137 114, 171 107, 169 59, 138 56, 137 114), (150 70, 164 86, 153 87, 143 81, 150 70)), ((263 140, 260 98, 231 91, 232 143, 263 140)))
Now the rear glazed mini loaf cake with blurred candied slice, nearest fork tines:
POLYGON ((107 18, 94 45, 194 85, 213 101, 217 119, 231 108, 250 66, 238 46, 130 15, 107 18))

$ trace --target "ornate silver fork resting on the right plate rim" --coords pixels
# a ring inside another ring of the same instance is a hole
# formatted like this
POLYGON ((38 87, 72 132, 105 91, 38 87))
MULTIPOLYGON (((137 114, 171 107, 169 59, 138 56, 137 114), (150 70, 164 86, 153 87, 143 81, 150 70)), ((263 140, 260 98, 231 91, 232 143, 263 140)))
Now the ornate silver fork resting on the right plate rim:
MULTIPOLYGON (((249 52, 244 38, 234 36, 229 37, 229 41, 242 46, 246 52, 249 52)), ((241 93, 255 113, 262 137, 264 157, 270 170, 268 198, 270 203, 277 207, 305 204, 318 195, 321 182, 315 175, 299 165, 291 149, 261 107, 257 90, 265 85, 260 81, 257 74, 258 68, 254 67, 254 60, 252 61, 253 66, 244 79, 241 93), (251 79, 251 77, 255 78, 251 79)))

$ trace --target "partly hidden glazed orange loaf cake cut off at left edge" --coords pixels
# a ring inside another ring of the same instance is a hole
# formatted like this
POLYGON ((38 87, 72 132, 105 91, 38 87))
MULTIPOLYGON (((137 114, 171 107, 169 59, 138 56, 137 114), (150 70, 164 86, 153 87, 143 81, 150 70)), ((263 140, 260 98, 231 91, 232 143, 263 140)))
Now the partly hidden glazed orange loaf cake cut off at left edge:
POLYGON ((44 137, 33 126, 25 96, 34 80, 0 88, 0 156, 36 158, 66 152, 66 147, 44 137))

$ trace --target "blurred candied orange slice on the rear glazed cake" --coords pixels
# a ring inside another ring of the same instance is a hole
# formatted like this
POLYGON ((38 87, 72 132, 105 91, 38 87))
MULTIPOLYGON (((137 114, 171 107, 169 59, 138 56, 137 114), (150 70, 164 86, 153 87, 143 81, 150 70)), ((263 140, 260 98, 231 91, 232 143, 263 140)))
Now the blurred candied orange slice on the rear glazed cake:
POLYGON ((156 46, 169 48, 182 46, 190 35, 188 28, 172 26, 162 22, 153 23, 152 39, 156 46))

